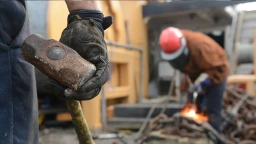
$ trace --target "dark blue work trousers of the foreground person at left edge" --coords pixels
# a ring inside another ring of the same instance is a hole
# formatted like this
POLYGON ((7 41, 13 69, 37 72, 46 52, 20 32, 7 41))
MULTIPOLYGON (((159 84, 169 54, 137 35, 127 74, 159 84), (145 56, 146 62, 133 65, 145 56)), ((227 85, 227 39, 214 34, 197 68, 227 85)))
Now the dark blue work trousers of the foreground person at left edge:
POLYGON ((24 1, 0 1, 0 144, 38 144, 35 72, 20 54, 28 28, 24 1))

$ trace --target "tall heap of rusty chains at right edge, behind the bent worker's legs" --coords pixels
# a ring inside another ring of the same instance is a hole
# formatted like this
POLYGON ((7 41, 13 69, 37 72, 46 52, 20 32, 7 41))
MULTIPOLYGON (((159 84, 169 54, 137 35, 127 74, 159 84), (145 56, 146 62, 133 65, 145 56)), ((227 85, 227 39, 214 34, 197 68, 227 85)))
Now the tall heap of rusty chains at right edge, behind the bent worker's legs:
POLYGON ((228 144, 255 144, 256 143, 256 99, 248 96, 234 115, 234 106, 246 97, 246 93, 239 88, 228 87, 224 95, 223 119, 227 124, 222 127, 228 144), (233 113, 232 113, 233 112, 233 113), (233 120, 227 118, 233 115, 233 120))

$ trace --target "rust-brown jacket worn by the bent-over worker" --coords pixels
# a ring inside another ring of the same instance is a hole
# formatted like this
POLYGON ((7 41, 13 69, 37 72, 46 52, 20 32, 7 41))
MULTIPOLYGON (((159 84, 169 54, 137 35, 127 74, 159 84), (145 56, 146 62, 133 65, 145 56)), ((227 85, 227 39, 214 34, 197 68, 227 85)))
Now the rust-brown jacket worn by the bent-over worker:
POLYGON ((182 30, 189 49, 189 61, 182 72, 188 74, 192 81, 207 73, 212 84, 223 82, 230 69, 224 49, 212 38, 203 33, 182 30))

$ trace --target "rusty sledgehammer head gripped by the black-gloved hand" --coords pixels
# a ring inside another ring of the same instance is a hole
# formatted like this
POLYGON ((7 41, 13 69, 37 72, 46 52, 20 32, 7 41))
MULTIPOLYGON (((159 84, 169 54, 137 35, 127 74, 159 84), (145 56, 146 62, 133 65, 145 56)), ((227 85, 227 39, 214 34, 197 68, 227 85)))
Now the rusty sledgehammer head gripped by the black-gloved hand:
POLYGON ((46 76, 77 92, 96 72, 96 67, 76 51, 42 35, 28 36, 22 44, 21 52, 26 61, 46 76))

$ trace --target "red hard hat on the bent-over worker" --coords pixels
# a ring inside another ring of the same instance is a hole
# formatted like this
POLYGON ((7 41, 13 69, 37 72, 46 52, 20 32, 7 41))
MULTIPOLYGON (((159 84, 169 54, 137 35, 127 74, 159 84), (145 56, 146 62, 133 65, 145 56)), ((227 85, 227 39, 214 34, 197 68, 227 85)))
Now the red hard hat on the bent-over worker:
POLYGON ((183 36, 180 29, 169 27, 162 31, 159 44, 164 53, 171 54, 182 47, 180 38, 183 36))

